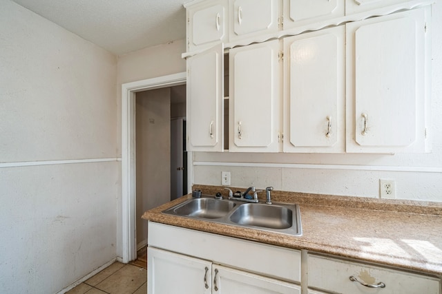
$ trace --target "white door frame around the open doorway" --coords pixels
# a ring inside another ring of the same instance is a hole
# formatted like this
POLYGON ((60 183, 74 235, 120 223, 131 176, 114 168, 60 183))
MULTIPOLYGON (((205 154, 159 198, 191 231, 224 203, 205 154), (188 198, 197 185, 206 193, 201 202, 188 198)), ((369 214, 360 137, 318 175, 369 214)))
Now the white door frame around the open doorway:
MULTIPOLYGON (((122 262, 137 257, 135 187, 135 93, 186 84, 186 72, 122 84, 122 262)), ((188 153, 188 156, 190 154, 188 153)), ((189 171, 191 174, 191 171, 189 171)), ((190 178, 187 180, 189 185, 190 178)))

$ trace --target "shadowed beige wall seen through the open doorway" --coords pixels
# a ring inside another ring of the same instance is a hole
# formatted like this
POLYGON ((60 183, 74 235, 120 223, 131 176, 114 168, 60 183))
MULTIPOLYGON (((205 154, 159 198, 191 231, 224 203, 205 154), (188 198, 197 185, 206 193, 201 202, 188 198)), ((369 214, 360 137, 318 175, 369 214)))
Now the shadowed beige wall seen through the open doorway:
POLYGON ((137 244, 147 244, 144 211, 171 200, 171 90, 136 93, 137 244))

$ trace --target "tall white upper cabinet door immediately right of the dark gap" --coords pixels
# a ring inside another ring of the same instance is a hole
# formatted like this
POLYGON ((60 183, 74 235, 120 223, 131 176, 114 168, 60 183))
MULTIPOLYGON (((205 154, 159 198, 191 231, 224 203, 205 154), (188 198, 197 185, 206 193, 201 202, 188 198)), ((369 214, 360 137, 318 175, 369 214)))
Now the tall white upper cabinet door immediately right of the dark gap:
POLYGON ((278 152, 278 40, 230 50, 229 151, 278 152))

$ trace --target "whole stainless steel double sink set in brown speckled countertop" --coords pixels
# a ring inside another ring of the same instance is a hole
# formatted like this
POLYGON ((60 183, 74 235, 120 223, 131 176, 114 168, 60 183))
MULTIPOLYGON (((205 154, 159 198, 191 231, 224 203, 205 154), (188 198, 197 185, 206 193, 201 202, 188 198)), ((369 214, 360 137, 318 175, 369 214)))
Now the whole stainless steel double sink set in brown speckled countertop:
POLYGON ((247 203, 237 200, 215 199, 213 196, 192 198, 163 213, 184 218, 206 220, 220 224, 247 227, 261 231, 301 235, 302 227, 298 204, 247 203))

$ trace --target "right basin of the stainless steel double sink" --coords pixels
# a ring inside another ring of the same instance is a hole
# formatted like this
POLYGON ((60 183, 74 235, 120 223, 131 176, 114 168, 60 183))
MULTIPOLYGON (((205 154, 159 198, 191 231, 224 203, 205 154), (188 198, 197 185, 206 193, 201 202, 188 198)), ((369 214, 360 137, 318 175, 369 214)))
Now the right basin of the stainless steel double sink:
POLYGON ((279 205, 247 203, 238 207, 230 220, 246 226, 288 229, 293 226, 293 211, 279 205))

